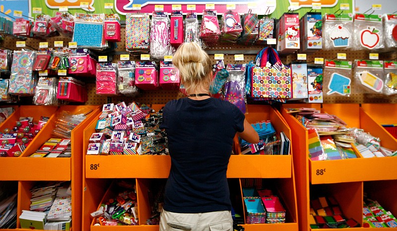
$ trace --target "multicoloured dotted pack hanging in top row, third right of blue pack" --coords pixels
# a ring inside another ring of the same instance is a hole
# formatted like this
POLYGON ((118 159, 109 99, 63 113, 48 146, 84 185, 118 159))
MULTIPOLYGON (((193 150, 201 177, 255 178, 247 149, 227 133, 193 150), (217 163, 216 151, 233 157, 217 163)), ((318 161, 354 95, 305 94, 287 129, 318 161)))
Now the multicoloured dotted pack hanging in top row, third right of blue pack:
POLYGON ((126 15, 126 49, 132 53, 149 53, 150 18, 145 13, 126 15))

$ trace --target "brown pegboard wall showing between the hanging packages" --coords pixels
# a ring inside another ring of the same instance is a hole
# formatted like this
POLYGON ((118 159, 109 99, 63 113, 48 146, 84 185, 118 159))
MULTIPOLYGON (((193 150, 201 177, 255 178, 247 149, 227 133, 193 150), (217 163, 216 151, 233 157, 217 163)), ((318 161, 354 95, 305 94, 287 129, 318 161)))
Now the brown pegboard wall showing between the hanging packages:
MULTIPOLYGON (((99 55, 107 55, 109 61, 117 62, 120 60, 120 55, 129 54, 126 51, 125 47, 125 34, 126 28, 125 26, 121 27, 121 38, 122 42, 117 43, 117 48, 113 52, 109 53, 99 53, 99 55)), ((89 36, 89 35, 87 35, 89 36)), ((21 48, 16 48, 16 42, 19 39, 15 39, 12 37, 6 37, 4 41, 1 42, 1 47, 3 49, 9 50, 20 50, 21 48)), ((53 47, 55 41, 64 41, 64 46, 68 45, 68 42, 71 41, 71 38, 64 36, 57 36, 48 39, 37 39, 37 38, 28 38, 26 40, 26 49, 38 49, 40 42, 48 42, 49 47, 53 47)), ((238 44, 218 44, 214 47, 209 47, 206 49, 207 53, 215 63, 213 59, 213 54, 224 54, 224 62, 226 63, 248 63, 250 60, 254 60, 256 54, 263 49, 264 46, 243 46, 238 44), (235 54, 244 54, 244 61, 235 61, 235 54)), ((284 64, 295 61, 297 58, 297 53, 289 55, 280 55, 280 59, 284 64)), ((324 59, 334 59, 336 58, 337 53, 346 53, 347 60, 354 61, 354 59, 368 59, 369 51, 348 51, 348 50, 321 50, 316 53, 307 54, 307 62, 308 64, 314 63, 315 58, 324 58, 324 59)), ((380 60, 390 60, 397 58, 397 52, 386 52, 379 55, 380 60)), ((130 60, 139 61, 139 57, 130 55, 130 60)), ((80 78, 81 79, 81 78, 80 78)), ((84 80, 84 79, 83 79, 84 80)), ((178 90, 154 90, 154 91, 142 91, 140 90, 139 95, 136 97, 126 97, 126 96, 103 96, 96 94, 96 85, 94 78, 87 78, 87 90, 88 90, 88 101, 85 103, 86 105, 102 105, 106 103, 117 103, 119 101, 136 101, 145 104, 165 104, 169 100, 179 99, 184 97, 178 90)), ((385 96, 367 96, 363 94, 355 94, 354 86, 352 86, 352 94, 350 97, 343 96, 327 96, 324 93, 324 103, 397 103, 397 96, 394 97, 385 97, 385 96)), ((296 101, 292 101, 292 103, 296 103, 296 101)))

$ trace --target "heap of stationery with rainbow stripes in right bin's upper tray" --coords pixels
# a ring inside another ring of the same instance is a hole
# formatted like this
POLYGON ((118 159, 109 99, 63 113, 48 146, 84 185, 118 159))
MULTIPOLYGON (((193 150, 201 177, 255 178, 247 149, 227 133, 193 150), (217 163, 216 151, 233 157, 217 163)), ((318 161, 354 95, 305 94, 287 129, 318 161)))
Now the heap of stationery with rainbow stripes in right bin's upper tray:
POLYGON ((313 108, 287 109, 308 130, 312 161, 396 156, 396 150, 381 146, 381 140, 359 128, 348 128, 335 115, 313 108))

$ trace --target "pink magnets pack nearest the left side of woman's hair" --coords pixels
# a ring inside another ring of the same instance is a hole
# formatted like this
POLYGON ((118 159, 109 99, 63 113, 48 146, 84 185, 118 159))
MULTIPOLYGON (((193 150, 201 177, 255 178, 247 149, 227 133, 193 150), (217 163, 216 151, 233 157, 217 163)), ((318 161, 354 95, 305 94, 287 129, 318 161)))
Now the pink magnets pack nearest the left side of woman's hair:
POLYGON ((162 89, 178 89, 181 84, 179 70, 172 62, 160 61, 160 86, 162 89))

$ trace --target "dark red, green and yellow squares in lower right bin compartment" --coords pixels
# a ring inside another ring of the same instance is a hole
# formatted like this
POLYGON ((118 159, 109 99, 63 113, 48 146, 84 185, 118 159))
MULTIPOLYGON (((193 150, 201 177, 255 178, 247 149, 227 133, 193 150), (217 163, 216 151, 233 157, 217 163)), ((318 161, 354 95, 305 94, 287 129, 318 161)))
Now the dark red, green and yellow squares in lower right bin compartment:
POLYGON ((310 200, 309 225, 312 229, 360 227, 354 219, 346 218, 339 203, 331 196, 314 197, 310 200))

